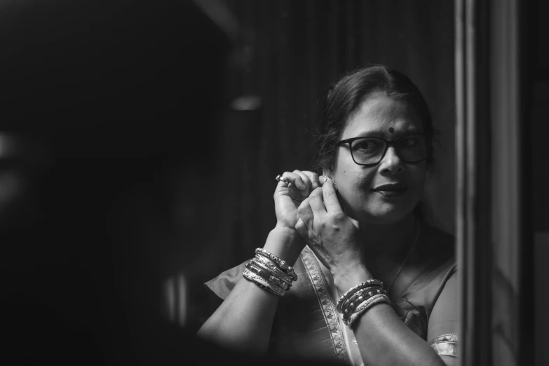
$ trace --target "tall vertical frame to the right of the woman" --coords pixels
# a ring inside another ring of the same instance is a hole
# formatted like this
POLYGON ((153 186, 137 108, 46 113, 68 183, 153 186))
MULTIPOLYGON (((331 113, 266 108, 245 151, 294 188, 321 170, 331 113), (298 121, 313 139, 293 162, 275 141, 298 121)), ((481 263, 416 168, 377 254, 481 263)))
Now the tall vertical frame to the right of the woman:
POLYGON ((459 359, 532 365, 527 9, 520 0, 454 5, 459 359))

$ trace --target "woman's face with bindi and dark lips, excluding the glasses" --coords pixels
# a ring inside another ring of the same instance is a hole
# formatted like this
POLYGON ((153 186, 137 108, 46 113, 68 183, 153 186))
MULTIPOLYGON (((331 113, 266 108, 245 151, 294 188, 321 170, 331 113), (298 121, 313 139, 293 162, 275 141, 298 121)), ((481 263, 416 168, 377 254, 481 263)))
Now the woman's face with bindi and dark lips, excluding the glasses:
MULTIPOLYGON (((349 116, 341 140, 368 136, 391 141, 417 133, 423 133, 423 123, 408 102, 374 93, 349 116)), ((332 172, 346 214, 369 224, 394 224, 409 215, 423 195, 425 177, 426 161, 405 163, 393 146, 379 164, 363 166, 353 161, 349 145, 341 144, 332 172), (384 184, 398 186, 380 189, 384 184)))

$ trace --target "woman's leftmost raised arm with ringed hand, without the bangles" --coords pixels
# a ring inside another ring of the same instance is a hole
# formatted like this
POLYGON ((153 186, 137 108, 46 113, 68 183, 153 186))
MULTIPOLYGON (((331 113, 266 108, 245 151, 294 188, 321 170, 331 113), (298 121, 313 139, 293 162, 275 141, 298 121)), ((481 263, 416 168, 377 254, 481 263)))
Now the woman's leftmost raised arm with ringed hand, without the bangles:
MULTIPOLYGON (((288 264, 296 262, 304 240, 295 230, 297 208, 319 186, 318 175, 311 172, 285 172, 274 194, 277 224, 269 233, 264 249, 288 264), (296 188, 297 187, 297 188, 296 188)), ((252 253, 250 253, 252 257, 252 253)), ((279 297, 241 278, 219 308, 198 330, 198 337, 227 348, 264 353, 269 346, 271 328, 279 297)))

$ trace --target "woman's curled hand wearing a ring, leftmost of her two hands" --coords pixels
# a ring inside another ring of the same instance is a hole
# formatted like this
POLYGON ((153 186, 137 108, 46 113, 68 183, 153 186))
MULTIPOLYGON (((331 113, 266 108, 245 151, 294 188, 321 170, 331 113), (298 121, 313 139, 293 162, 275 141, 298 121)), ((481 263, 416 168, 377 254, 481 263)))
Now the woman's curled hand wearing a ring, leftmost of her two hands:
POLYGON ((295 230, 299 220, 297 208, 321 184, 316 173, 306 170, 284 172, 282 177, 287 179, 289 184, 280 180, 276 186, 274 193, 276 226, 295 230))

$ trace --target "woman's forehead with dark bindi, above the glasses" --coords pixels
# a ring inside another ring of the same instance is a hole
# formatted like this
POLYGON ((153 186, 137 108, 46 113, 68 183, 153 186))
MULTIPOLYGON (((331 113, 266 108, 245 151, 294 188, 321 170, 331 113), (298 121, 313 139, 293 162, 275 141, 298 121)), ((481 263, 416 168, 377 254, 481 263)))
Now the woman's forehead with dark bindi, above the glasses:
POLYGON ((349 116, 341 140, 366 135, 391 140, 391 137, 422 132, 423 123, 409 102, 374 93, 349 116), (389 133, 391 127, 394 133, 389 133))

